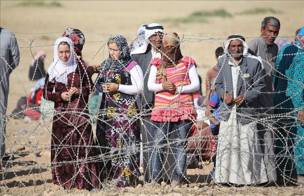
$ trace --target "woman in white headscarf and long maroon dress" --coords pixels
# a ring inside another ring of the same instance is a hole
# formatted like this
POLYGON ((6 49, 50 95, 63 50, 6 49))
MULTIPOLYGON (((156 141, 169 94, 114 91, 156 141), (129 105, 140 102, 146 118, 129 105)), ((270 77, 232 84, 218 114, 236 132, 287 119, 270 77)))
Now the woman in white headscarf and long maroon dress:
POLYGON ((51 135, 53 183, 64 189, 100 188, 95 164, 92 126, 87 108, 93 88, 83 65, 76 61, 70 38, 60 37, 54 44, 54 62, 48 68, 43 98, 54 102, 51 135), (55 90, 55 92, 53 92, 55 90))

